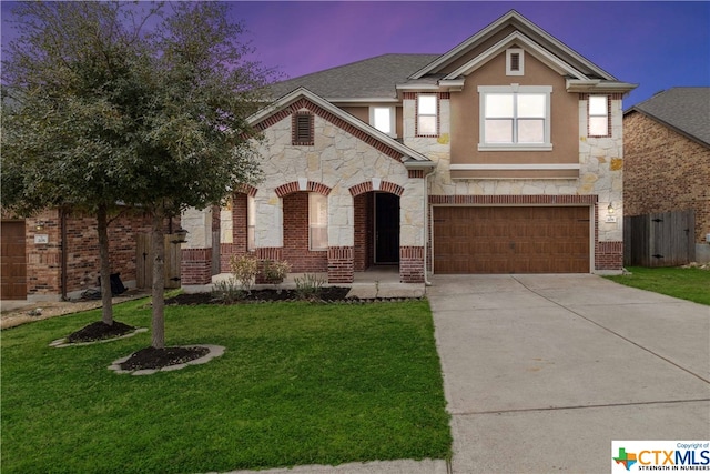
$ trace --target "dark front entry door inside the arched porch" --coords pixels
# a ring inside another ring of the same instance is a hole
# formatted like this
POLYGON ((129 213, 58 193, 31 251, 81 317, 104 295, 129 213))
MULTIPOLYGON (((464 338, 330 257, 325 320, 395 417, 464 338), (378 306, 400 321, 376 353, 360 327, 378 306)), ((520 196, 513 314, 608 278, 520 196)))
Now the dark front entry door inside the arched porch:
POLYGON ((399 196, 375 193, 375 263, 399 263, 399 196))

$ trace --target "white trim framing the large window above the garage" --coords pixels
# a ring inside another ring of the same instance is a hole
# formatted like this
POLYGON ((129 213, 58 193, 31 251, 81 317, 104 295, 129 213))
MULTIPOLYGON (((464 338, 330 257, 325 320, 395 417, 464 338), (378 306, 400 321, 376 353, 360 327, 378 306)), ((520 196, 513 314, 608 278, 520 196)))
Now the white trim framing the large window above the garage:
POLYGON ((552 151, 551 122, 552 111, 550 107, 551 85, 478 85, 478 151, 552 151), (486 135, 486 100, 487 93, 544 93, 547 115, 545 117, 545 142, 544 143, 484 143, 481 140, 486 135))

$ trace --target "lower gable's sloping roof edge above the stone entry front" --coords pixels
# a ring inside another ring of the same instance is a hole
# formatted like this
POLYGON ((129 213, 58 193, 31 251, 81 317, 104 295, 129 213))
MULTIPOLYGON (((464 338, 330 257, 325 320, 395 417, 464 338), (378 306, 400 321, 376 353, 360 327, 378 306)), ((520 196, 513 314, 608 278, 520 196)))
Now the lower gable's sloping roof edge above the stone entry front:
POLYGON ((262 124, 262 129, 267 128, 271 124, 275 123, 270 122, 268 119, 276 117, 278 118, 278 120, 283 120, 280 114, 283 115, 285 112, 287 112, 290 107, 295 104, 296 107, 301 108, 303 105, 307 105, 308 103, 315 107, 306 108, 314 110, 317 115, 325 118, 337 127, 358 137, 361 140, 367 142, 377 150, 393 158, 396 158, 408 169, 436 167, 436 163, 426 158, 424 154, 410 149, 409 147, 404 145, 403 143, 399 143, 388 134, 383 133, 374 127, 355 118, 354 115, 351 115, 349 113, 333 105, 327 100, 311 92, 305 88, 298 88, 295 91, 287 93, 286 95, 273 102, 271 105, 248 117, 246 120, 251 125, 258 127, 260 124, 262 124))

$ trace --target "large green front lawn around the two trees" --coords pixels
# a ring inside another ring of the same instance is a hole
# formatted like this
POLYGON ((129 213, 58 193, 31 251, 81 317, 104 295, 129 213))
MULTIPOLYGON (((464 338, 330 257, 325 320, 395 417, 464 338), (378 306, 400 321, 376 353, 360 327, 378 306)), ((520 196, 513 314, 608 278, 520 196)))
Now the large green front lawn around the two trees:
MULTIPOLYGON (((145 300, 115 319, 150 327, 145 300)), ((99 311, 2 331, 2 472, 199 473, 445 458, 452 437, 426 301, 169 306, 169 345, 205 365, 149 376, 108 365, 150 333, 48 344, 99 311)))

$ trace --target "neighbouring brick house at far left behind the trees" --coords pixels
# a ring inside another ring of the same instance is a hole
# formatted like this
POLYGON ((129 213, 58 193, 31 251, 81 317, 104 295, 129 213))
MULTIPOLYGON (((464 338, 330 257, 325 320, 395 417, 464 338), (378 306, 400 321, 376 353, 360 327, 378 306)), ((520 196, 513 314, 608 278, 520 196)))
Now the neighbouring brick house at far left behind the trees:
MULTIPOLYGON (((136 280, 136 235, 150 232, 151 219, 142 213, 121 215, 109 225, 111 272, 120 273, 128 288, 136 280)), ((2 300, 57 301, 98 285, 99 239, 93 218, 60 209, 28 219, 6 212, 0 239, 2 300)))

